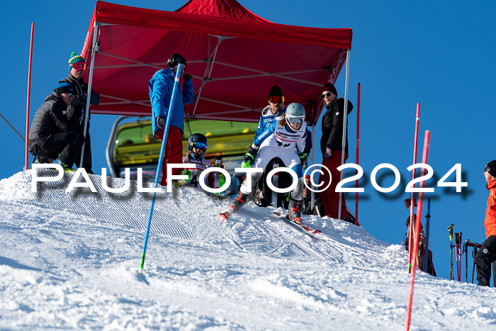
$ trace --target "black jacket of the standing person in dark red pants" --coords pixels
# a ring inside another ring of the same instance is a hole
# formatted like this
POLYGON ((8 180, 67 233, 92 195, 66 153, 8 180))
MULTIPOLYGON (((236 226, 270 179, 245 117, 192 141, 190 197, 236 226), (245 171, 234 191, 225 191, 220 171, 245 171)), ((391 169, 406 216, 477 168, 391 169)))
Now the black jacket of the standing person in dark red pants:
MULTIPOLYGON (((337 99, 326 105, 327 112, 322 116, 322 138, 320 138, 320 150, 322 156, 325 149, 342 150, 343 143, 343 114, 344 99, 337 99)), ((348 101, 348 113, 351 113, 353 104, 348 101)), ((348 132, 346 130, 346 145, 344 152, 348 153, 348 132)))

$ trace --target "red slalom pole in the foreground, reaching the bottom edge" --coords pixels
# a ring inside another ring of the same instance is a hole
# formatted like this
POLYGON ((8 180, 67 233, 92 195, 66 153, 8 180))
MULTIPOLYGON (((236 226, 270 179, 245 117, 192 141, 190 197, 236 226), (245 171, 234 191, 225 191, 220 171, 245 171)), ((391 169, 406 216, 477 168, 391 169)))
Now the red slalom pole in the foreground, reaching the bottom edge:
MULTIPOLYGON (((431 133, 429 130, 425 130, 424 136, 424 152, 422 152, 422 163, 427 164, 427 159, 429 157, 429 144, 431 142, 431 133)), ((425 169, 422 169, 421 175, 424 176, 425 169)), ((420 189, 423 189, 425 186, 425 181, 420 182, 420 189)), ((407 322, 405 325, 405 330, 410 330, 410 315, 412 313, 412 300, 413 300, 413 286, 415 284, 415 269, 417 268, 417 253, 419 250, 419 237, 420 237, 420 223, 422 218, 422 204, 424 199, 424 192, 419 192, 419 206, 417 207, 417 220, 415 221, 415 236, 414 236, 414 245, 413 245, 413 254, 412 254, 412 272, 410 273, 410 294, 408 296, 408 305, 407 305, 407 322)), ((410 218, 410 224, 412 224, 412 218, 410 218)))

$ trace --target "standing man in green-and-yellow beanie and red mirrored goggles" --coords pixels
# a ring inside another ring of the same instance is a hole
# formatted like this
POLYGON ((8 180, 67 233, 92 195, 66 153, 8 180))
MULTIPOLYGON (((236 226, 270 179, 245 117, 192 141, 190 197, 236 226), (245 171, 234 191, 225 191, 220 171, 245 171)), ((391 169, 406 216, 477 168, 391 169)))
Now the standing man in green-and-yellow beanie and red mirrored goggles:
MULTIPOLYGON (((69 76, 60 81, 60 83, 67 82, 72 85, 74 89, 74 98, 71 101, 71 108, 68 110, 67 116, 74 124, 74 130, 81 133, 84 132, 84 116, 86 115, 86 103, 88 101, 88 84, 84 82, 83 75, 86 71, 86 62, 81 55, 77 52, 72 52, 69 57, 69 76)), ((90 105, 98 105, 100 103, 100 94, 95 93, 91 90, 91 97, 89 100, 90 105)), ((88 116, 88 125, 86 128, 86 140, 84 143, 84 157, 83 157, 83 167, 88 174, 93 174, 91 170, 92 160, 91 160, 91 138, 89 135, 89 120, 91 118, 91 113, 88 116)), ((76 160, 76 164, 79 166, 81 162, 81 156, 76 160)))

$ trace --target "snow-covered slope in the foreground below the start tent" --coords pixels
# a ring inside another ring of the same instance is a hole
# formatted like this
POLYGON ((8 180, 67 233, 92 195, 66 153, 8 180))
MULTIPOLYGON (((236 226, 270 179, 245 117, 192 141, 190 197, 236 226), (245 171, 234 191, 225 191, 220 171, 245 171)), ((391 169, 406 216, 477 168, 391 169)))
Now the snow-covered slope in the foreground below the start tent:
MULTIPOLYGON (((72 176, 0 181, 1 330, 404 328, 407 254, 361 227, 305 216, 311 237, 252 203, 221 222, 225 198, 160 193, 139 275, 151 194, 93 175, 66 193, 72 176)), ((419 271, 412 330, 490 330, 495 294, 419 271)))

